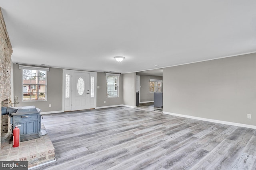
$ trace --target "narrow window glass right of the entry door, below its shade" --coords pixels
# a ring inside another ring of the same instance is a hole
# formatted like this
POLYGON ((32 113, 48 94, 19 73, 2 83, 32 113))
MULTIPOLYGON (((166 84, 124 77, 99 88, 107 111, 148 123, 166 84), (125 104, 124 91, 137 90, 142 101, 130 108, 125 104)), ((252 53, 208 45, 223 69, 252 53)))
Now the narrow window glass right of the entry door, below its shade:
POLYGON ((118 97, 118 76, 107 76, 107 97, 118 97))

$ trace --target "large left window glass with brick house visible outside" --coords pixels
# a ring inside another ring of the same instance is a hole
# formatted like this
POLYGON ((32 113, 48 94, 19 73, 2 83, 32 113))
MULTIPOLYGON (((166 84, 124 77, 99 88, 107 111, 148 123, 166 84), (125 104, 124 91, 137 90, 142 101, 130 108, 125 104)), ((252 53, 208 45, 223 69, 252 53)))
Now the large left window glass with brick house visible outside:
POLYGON ((45 70, 22 69, 22 101, 46 100, 45 70))

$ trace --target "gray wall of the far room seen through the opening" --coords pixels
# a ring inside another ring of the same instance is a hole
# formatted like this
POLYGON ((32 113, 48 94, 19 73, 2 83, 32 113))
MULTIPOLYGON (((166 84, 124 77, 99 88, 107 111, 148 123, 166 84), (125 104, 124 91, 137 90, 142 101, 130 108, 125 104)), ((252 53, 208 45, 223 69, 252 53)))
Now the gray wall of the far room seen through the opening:
POLYGON ((154 100, 154 93, 149 92, 149 79, 162 80, 163 77, 140 75, 140 102, 149 102, 154 100))

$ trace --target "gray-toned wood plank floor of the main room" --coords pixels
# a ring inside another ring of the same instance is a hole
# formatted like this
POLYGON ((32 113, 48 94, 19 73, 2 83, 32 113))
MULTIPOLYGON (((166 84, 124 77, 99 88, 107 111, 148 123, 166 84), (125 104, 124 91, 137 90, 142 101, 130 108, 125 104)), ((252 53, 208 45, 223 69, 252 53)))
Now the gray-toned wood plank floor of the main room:
POLYGON ((35 170, 251 170, 256 129, 113 107, 44 115, 56 162, 35 170))

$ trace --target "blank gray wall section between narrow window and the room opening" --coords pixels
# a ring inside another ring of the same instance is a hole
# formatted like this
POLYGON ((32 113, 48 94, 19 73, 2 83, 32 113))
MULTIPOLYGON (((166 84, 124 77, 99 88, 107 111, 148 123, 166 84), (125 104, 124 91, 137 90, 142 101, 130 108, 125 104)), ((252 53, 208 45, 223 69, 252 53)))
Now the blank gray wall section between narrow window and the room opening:
POLYGON ((127 106, 136 106, 136 73, 126 73, 123 74, 123 98, 124 105, 127 106))

